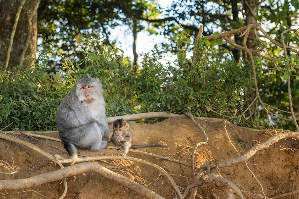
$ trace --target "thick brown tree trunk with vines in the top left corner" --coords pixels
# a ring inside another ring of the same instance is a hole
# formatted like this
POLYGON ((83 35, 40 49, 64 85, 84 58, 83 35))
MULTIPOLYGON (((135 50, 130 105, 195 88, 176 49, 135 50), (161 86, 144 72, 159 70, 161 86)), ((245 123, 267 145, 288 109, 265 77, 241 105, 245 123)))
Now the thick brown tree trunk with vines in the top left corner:
MULTIPOLYGON (((13 67, 23 64, 24 56, 32 54, 36 58, 37 53, 37 8, 41 0, 27 0, 21 10, 18 24, 14 33, 8 66, 9 71, 13 67)), ((16 13, 22 0, 0 0, 0 61, 7 59, 10 37, 16 13)), ((5 64, 4 64, 5 65, 5 64)))

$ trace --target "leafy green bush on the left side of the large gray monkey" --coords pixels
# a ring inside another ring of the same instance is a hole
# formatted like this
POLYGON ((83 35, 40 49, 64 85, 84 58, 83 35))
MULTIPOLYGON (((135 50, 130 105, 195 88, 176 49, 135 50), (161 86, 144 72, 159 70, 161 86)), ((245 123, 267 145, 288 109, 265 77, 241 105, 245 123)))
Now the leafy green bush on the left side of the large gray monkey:
MULTIPOLYGON (((49 36, 51 37, 51 36, 49 36)), ((32 59, 30 66, 18 66, 14 72, 0 70, 0 124, 23 130, 57 130, 55 115, 61 99, 75 85, 71 74, 51 72, 48 67, 51 52, 48 40, 32 59)), ((67 66, 69 70, 74 70, 67 66)))

